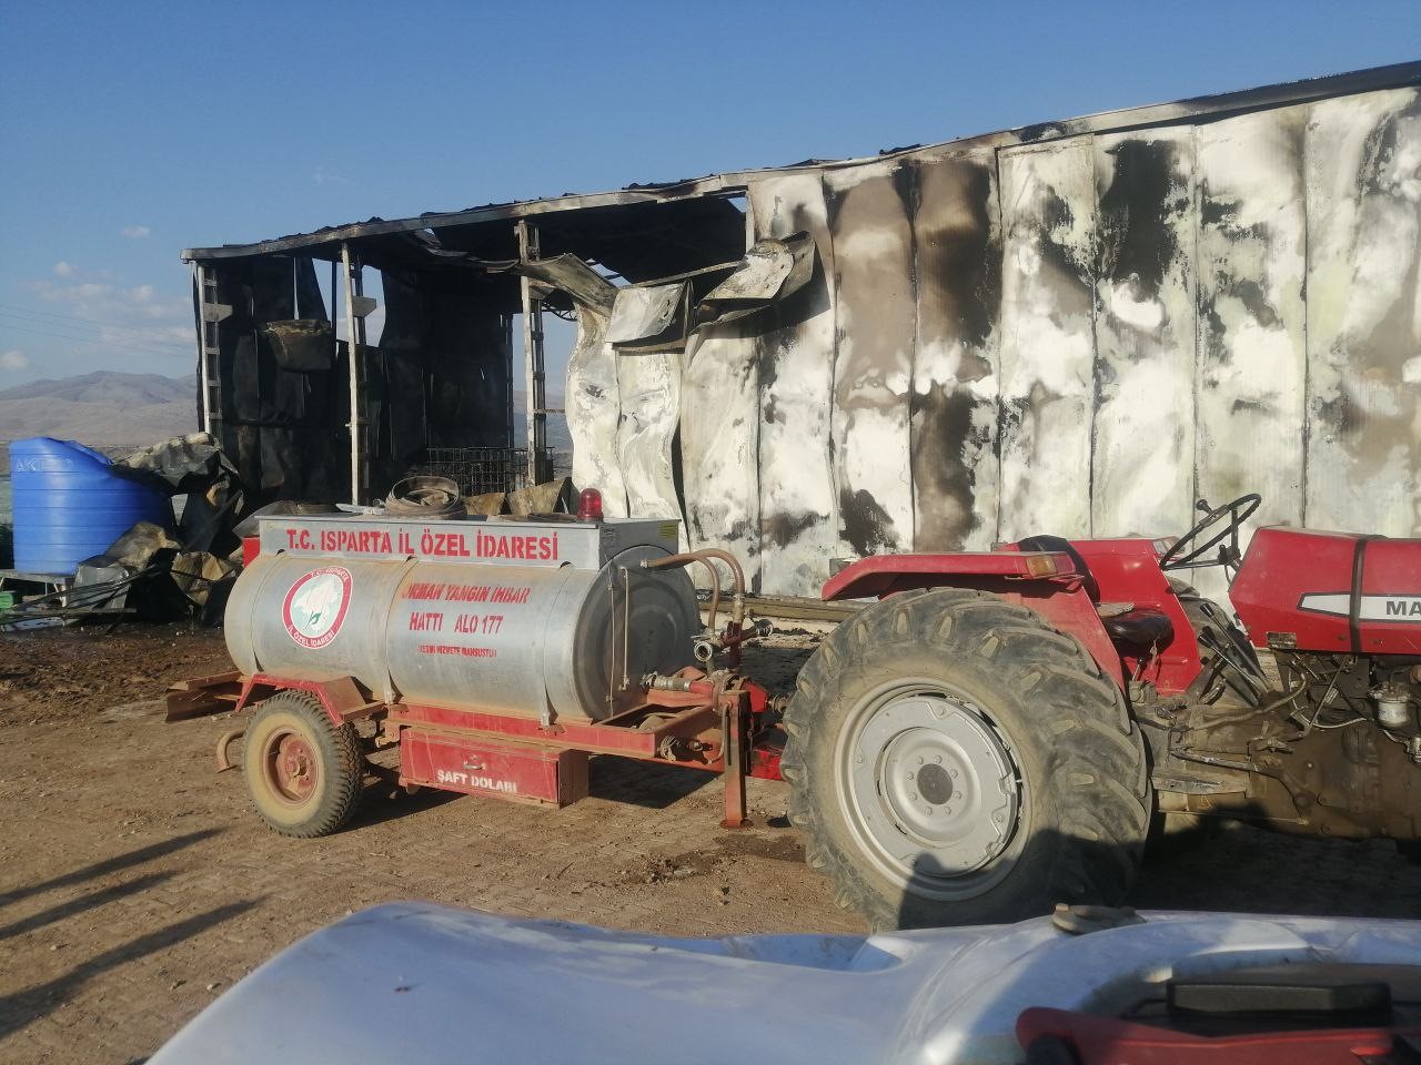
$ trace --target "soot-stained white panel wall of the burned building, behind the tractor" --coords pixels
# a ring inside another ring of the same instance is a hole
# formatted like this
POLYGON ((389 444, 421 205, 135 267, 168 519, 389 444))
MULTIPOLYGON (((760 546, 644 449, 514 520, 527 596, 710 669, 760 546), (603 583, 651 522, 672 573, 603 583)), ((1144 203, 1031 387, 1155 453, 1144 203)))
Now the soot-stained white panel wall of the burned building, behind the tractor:
POLYGON ((615 372, 574 361, 568 395, 580 469, 638 513, 678 510, 679 416, 689 541, 760 591, 1178 532, 1245 491, 1262 521, 1421 535, 1415 89, 766 173, 749 210, 814 236, 813 283, 684 356, 594 344, 615 372))

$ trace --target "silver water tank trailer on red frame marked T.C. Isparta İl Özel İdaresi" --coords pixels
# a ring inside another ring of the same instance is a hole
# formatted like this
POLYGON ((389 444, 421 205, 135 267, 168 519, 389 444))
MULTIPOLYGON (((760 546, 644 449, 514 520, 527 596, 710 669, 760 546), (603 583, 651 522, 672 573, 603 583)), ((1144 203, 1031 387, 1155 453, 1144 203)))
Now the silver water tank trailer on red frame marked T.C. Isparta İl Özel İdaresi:
POLYGON ((261 518, 226 609, 237 670, 176 686, 169 720, 250 710, 219 768, 243 738, 256 811, 288 836, 340 829, 368 775, 564 807, 590 754, 723 774, 723 824, 742 826, 745 777, 779 780, 782 734, 732 672, 753 635, 739 564, 678 552, 678 531, 603 520, 594 491, 578 517, 261 518), (715 585, 730 571, 719 630, 691 564, 715 585))

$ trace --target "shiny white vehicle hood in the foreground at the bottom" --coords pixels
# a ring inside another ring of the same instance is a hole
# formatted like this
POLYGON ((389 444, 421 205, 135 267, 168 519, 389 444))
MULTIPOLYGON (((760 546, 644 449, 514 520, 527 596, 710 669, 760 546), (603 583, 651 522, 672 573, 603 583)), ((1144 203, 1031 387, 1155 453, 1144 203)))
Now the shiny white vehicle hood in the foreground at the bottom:
POLYGON ((225 1062, 1017 1062, 1033 1005, 1253 964, 1421 964, 1421 922, 1145 913, 875 936, 669 939, 422 903, 288 947, 151 1065, 225 1062))

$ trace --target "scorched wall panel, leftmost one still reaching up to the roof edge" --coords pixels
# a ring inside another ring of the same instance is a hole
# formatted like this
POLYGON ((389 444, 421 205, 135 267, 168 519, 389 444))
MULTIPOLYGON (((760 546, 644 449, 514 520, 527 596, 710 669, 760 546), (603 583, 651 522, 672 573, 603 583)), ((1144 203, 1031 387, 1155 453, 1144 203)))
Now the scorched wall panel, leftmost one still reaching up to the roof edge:
POLYGON ((750 186, 756 237, 809 233, 818 247, 804 284, 770 314, 759 351, 759 520, 762 584, 817 596, 838 550, 831 462, 834 402, 834 251, 817 173, 750 186))

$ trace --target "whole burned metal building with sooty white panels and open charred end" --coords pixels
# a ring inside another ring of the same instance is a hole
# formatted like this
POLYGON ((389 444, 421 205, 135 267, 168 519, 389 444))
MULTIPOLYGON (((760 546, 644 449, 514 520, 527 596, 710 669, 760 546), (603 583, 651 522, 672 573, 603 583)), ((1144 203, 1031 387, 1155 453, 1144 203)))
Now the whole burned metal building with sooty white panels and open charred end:
POLYGON ((362 497, 426 447, 509 447, 527 382, 536 464, 556 310, 574 480, 760 591, 1177 532, 1243 491, 1265 523, 1417 535, 1418 91, 1404 64, 189 250, 203 417, 259 491, 362 497), (379 270, 378 344, 335 342, 324 263, 357 322, 379 270))

